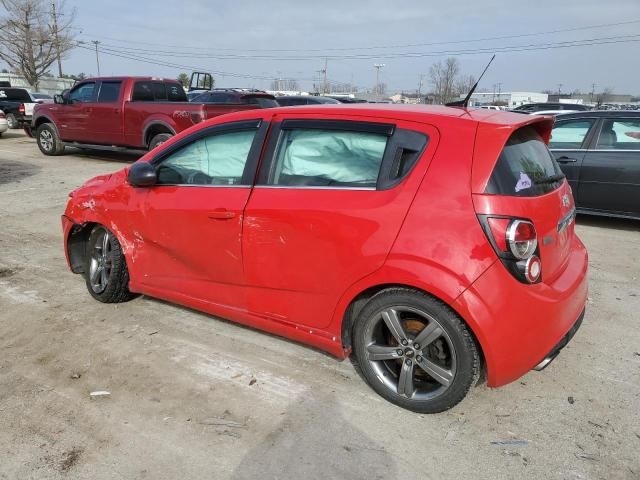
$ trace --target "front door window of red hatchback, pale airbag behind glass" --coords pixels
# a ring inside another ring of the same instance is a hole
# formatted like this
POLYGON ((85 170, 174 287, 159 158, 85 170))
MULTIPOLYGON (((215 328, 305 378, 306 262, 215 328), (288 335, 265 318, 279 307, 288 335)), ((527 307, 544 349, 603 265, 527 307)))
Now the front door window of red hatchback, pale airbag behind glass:
POLYGON ((158 167, 160 185, 241 185, 256 129, 213 134, 172 153, 158 167))

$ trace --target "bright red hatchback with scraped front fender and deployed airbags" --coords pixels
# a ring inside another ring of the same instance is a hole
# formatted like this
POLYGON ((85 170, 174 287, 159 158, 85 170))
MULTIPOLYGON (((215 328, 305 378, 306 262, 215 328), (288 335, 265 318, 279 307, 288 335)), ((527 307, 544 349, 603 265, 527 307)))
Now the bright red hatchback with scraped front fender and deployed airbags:
POLYGON ((73 191, 71 270, 353 353, 404 408, 542 368, 584 315, 587 252, 552 119, 326 105, 220 116, 73 191))

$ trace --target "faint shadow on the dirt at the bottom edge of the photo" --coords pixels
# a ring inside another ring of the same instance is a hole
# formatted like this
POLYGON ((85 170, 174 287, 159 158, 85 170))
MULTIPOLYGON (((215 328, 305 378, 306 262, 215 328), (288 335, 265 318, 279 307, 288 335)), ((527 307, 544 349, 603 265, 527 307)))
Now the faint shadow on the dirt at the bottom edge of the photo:
POLYGON ((391 454, 345 418, 335 397, 312 392, 291 404, 231 478, 369 480, 397 475, 391 454))

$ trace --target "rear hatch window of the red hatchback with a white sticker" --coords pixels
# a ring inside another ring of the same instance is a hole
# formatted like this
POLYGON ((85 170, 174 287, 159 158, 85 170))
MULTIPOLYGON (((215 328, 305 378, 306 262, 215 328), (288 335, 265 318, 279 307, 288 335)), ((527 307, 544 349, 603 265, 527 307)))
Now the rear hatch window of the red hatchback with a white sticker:
POLYGON ((564 175, 533 127, 515 131, 502 149, 485 193, 535 197, 560 186, 564 175))

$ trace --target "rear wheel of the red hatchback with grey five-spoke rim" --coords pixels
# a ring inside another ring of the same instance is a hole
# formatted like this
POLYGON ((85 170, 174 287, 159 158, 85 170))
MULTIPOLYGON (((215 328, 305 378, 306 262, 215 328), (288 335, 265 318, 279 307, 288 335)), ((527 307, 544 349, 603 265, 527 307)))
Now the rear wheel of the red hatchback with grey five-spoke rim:
POLYGON ((363 307, 353 344, 369 386, 418 413, 454 407, 480 375, 480 351, 465 323, 444 303, 408 288, 384 290, 363 307))

